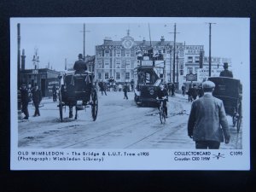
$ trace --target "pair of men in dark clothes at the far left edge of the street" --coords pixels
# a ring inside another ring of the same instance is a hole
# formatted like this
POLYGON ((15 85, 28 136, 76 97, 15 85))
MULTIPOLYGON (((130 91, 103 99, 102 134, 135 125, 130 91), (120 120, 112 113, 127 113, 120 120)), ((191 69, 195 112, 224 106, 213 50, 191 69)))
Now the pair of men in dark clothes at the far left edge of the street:
POLYGON ((35 84, 34 88, 30 91, 29 88, 26 88, 26 84, 21 85, 20 89, 20 95, 21 95, 21 112, 25 114, 25 117, 23 119, 29 118, 29 112, 28 112, 28 103, 31 102, 32 97, 32 103, 35 107, 35 112, 33 117, 40 116, 39 112, 39 105, 42 101, 42 94, 41 90, 38 89, 38 84, 35 84))

